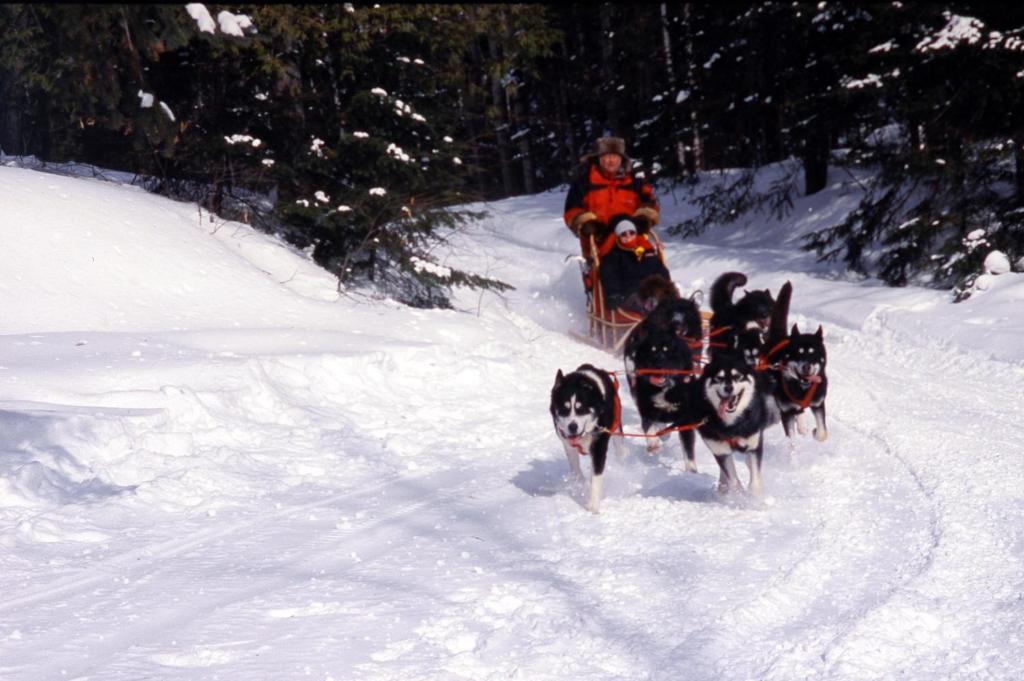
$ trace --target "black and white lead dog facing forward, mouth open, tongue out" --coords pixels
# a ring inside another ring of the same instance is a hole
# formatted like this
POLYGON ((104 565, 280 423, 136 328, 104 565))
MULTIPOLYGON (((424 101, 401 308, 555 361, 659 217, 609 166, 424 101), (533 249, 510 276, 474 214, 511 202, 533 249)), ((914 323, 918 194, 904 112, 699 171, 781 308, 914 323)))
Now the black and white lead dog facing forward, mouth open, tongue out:
POLYGON ((718 490, 742 490, 732 455, 746 455, 751 470, 748 488, 760 496, 764 490, 761 460, 764 430, 771 422, 764 372, 758 372, 737 352, 720 351, 703 368, 698 384, 702 423, 700 437, 718 462, 718 490))

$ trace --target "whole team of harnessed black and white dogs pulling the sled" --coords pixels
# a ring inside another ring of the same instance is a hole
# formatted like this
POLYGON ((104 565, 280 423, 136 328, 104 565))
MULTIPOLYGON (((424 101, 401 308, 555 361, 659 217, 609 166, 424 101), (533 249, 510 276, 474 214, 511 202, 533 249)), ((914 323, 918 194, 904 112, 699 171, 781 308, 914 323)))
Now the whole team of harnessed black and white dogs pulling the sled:
MULTIPOLYGON (((696 433, 719 467, 718 492, 742 490, 732 455, 746 455, 751 494, 763 492, 761 460, 764 431, 781 422, 787 437, 804 434, 803 414, 814 416, 814 437, 828 436, 825 425, 825 346, 821 327, 786 331, 792 285, 772 296, 767 289, 735 290, 746 284, 741 272, 726 272, 712 285, 711 332, 702 335, 698 304, 675 291, 630 333, 624 346, 624 372, 640 415, 649 453, 678 432, 687 471, 695 472, 696 433), (705 361, 705 345, 708 360, 705 361)), ((583 473, 580 457, 590 457, 593 475, 587 501, 597 513, 608 444, 621 452, 624 431, 618 382, 613 373, 592 365, 555 376, 551 417, 565 449, 569 469, 583 473)))

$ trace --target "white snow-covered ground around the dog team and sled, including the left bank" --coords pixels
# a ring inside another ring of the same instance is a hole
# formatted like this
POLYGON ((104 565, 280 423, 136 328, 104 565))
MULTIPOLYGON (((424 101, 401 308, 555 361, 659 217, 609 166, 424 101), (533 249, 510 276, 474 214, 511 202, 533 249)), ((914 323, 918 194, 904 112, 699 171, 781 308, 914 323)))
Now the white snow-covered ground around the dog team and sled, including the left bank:
POLYGON ((631 440, 595 516, 548 393, 621 360, 565 334, 561 194, 443 254, 515 291, 412 310, 196 206, 0 167, 0 679, 1020 678, 1024 275, 954 305, 796 248, 855 201, 668 240, 684 289, 794 283, 829 439, 770 431, 761 502, 718 499, 702 443, 691 474, 631 440))

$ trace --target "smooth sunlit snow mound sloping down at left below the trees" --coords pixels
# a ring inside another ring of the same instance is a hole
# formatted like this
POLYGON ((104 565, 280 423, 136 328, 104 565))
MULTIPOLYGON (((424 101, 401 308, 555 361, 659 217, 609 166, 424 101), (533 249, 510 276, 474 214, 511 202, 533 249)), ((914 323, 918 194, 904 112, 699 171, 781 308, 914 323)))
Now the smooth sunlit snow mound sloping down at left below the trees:
POLYGON ((137 187, 3 167, 0 205, 0 333, 266 328, 338 298, 280 241, 137 187))

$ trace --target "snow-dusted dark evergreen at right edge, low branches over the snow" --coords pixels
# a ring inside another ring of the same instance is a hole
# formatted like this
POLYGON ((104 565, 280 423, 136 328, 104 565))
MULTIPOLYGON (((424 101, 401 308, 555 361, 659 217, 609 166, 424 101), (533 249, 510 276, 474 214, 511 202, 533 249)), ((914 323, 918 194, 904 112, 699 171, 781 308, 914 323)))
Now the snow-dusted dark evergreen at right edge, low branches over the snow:
POLYGON ((886 125, 851 155, 878 174, 858 208, 808 248, 892 285, 963 295, 992 249, 1024 255, 1013 189, 1021 16, 1002 12, 1001 26, 990 26, 934 6, 887 12, 891 33, 869 50, 877 61, 865 79, 886 125))

